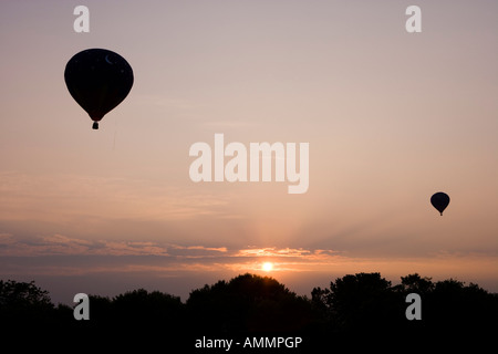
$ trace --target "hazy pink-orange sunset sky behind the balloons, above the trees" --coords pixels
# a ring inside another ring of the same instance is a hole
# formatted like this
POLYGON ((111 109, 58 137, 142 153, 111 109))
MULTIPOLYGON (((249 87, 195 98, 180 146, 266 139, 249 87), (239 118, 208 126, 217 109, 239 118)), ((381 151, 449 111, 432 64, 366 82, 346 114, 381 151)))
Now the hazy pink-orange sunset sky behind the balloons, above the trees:
POLYGON ((307 295, 357 272, 498 292, 497 14, 491 0, 2 1, 0 279, 63 303, 185 301, 246 272, 307 295), (135 77, 98 131, 63 75, 90 48, 135 77), (308 143, 308 191, 193 181, 190 146, 215 134, 308 143))

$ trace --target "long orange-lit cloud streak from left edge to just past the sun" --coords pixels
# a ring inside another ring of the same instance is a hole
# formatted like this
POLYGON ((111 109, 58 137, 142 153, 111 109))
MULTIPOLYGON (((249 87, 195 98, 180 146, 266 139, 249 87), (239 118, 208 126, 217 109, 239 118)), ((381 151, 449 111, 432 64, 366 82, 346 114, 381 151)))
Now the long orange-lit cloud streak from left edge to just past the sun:
MULTIPOLYGON (((264 261, 272 261, 276 270, 305 270, 310 266, 329 264, 338 260, 338 252, 332 250, 308 250, 302 248, 257 248, 228 249, 203 244, 174 244, 153 241, 124 240, 83 240, 63 235, 39 237, 31 240, 20 240, 10 233, 0 233, 0 256, 3 257, 100 257, 101 260, 127 257, 125 264, 110 266, 115 262, 102 261, 94 263, 86 271, 110 272, 145 271, 216 271, 240 270, 257 271, 264 261), (129 258, 139 257, 139 258, 129 258), (159 263, 151 257, 159 257, 159 263)), ((68 263, 70 273, 76 272, 74 264, 68 263)), ((60 264, 62 267, 62 264, 60 264)), ((53 271, 53 269, 50 269, 53 271)))

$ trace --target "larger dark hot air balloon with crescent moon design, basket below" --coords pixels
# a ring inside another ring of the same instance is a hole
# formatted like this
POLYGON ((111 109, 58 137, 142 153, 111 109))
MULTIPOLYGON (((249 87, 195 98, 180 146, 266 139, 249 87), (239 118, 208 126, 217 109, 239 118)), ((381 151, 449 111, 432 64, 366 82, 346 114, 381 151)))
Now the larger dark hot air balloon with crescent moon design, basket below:
POLYGON ((65 65, 64 80, 71 96, 92 118, 93 128, 116 107, 133 86, 133 70, 117 53, 105 49, 87 49, 75 54, 65 65))

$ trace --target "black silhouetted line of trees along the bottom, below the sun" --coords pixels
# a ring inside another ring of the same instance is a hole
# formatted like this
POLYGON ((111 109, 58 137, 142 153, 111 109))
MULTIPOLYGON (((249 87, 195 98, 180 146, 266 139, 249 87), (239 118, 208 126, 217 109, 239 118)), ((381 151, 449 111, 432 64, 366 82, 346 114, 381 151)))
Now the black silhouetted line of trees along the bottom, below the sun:
POLYGON ((433 282, 416 273, 402 277, 396 285, 380 273, 347 274, 331 281, 329 288, 314 288, 311 296, 297 295, 272 278, 249 273, 193 290, 185 303, 178 296, 145 289, 114 298, 90 295, 90 321, 74 320, 72 306, 53 304, 49 292, 34 281, 0 281, 2 329, 90 333, 94 337, 115 330, 123 337, 143 334, 151 339, 157 339, 155 334, 219 337, 277 333, 312 337, 322 348, 340 341, 355 343, 359 337, 486 340, 496 335, 497 319, 498 294, 474 283, 433 282), (421 321, 405 316, 409 293, 421 295, 421 321))

